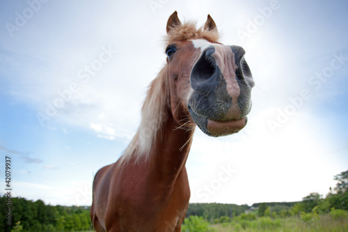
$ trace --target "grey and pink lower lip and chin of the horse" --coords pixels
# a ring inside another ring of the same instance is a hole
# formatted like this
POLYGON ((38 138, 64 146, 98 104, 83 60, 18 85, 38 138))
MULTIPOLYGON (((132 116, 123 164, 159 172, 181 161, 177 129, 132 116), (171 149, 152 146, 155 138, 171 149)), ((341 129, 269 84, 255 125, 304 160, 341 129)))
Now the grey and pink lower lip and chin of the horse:
POLYGON ((239 132, 239 130, 242 130, 248 121, 246 116, 229 121, 216 121, 212 118, 207 118, 205 116, 196 114, 196 112, 193 111, 190 106, 188 106, 188 108, 193 121, 198 125, 200 130, 212 137, 235 134, 239 132))

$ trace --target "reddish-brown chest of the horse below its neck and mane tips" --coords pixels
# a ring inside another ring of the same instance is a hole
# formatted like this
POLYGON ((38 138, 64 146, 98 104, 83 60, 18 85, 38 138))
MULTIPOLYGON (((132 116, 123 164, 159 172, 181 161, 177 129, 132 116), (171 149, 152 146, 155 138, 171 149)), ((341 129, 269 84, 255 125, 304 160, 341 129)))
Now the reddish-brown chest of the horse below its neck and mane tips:
POLYGON ((181 224, 189 203, 186 169, 172 185, 153 182, 142 168, 127 173, 133 174, 126 177, 118 173, 120 180, 110 186, 113 196, 109 199, 116 201, 108 203, 106 229, 117 225, 120 231, 174 231, 181 224))

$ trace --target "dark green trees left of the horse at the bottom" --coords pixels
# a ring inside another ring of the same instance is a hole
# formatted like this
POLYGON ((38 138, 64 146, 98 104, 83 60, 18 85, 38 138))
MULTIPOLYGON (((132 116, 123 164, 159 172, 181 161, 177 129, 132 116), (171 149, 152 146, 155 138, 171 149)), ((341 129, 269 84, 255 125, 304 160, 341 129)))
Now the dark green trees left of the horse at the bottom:
POLYGON ((90 229, 88 207, 49 206, 41 200, 29 201, 21 197, 11 199, 8 226, 7 196, 0 197, 0 231, 86 231, 90 229))

